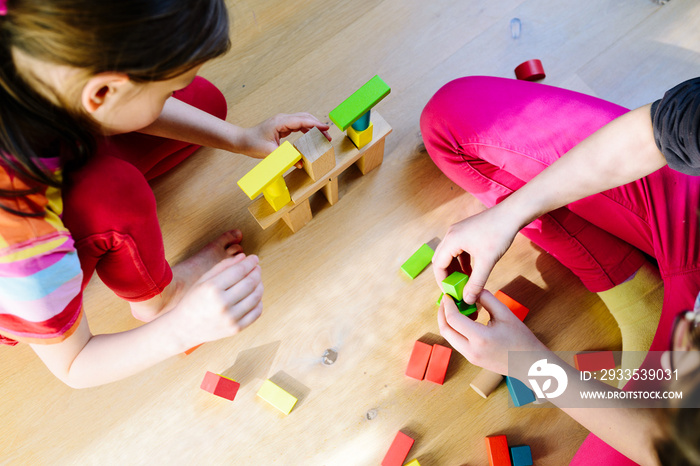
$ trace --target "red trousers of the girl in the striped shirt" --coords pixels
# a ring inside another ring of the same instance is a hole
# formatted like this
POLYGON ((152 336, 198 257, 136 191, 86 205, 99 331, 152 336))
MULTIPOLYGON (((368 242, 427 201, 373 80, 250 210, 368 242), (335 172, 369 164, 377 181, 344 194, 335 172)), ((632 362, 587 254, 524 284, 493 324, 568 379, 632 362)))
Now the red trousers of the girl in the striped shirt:
MULTIPOLYGON (((173 96, 226 117, 224 96, 204 78, 195 78, 173 96)), ((153 298, 170 283, 172 271, 148 181, 198 148, 140 133, 122 134, 101 140, 84 167, 66 174, 63 222, 78 250, 83 289, 95 271, 128 301, 153 298)))

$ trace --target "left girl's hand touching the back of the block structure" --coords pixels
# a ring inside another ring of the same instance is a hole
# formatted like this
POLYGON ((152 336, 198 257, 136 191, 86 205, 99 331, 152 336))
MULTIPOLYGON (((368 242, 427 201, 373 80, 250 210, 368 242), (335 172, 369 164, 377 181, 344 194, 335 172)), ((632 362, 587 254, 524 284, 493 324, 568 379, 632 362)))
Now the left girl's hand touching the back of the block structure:
POLYGON ((310 113, 277 114, 246 130, 245 154, 259 159, 265 158, 279 147, 282 138, 296 131, 306 133, 314 127, 321 130, 329 141, 331 140, 328 133, 330 126, 321 123, 310 113))

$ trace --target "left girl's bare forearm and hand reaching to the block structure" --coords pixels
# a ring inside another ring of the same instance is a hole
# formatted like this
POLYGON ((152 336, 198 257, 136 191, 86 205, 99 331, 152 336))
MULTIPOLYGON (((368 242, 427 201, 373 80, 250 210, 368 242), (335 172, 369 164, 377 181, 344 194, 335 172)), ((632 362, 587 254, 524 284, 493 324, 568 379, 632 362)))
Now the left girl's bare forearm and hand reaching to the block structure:
POLYGON ((279 146, 281 138, 314 127, 330 140, 329 126, 308 113, 281 113, 252 128, 242 128, 171 97, 160 117, 140 132, 264 158, 279 146))

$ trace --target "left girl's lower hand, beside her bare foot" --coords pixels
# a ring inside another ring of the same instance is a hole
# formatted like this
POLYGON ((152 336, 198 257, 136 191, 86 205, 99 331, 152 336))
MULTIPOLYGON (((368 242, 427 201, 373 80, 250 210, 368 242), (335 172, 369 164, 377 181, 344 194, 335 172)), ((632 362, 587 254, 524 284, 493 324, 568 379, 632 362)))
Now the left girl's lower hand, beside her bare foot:
POLYGON ((164 317, 186 347, 235 335, 262 313, 263 285, 257 256, 237 254, 216 264, 164 317))

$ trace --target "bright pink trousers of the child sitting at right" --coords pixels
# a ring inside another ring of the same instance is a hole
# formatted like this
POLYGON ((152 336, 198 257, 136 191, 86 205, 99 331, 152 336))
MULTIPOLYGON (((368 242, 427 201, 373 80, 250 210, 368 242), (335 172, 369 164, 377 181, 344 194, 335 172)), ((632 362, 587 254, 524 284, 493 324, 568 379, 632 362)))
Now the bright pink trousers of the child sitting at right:
MULTIPOLYGON (((421 115, 430 157, 487 207, 497 204, 580 141, 628 110, 543 84, 492 77, 456 79, 421 115)), ((522 233, 603 291, 659 265, 664 303, 651 349, 665 351, 673 318, 700 291, 700 178, 664 167, 641 180, 560 208, 522 233)), ((571 464, 634 464, 593 434, 571 464)))

